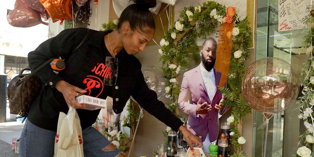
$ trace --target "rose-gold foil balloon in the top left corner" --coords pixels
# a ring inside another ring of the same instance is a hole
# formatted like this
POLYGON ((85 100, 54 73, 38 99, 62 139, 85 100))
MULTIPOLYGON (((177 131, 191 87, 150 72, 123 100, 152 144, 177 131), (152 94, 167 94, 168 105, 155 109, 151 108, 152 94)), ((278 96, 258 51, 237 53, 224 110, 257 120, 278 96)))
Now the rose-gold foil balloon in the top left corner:
POLYGON ((41 20, 40 13, 28 7, 22 0, 16 0, 14 9, 7 15, 8 23, 16 27, 30 27, 45 24, 41 20))

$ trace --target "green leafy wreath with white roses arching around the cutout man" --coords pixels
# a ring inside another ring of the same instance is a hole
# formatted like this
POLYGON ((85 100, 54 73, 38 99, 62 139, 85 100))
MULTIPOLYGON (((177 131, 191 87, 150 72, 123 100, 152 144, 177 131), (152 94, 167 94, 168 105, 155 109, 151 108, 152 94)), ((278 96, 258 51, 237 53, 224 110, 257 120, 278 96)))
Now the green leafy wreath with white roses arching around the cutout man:
MULTIPOLYGON (((233 28, 232 55, 228 72, 229 87, 219 88, 225 96, 223 105, 232 106, 231 116, 227 118, 227 124, 234 126, 231 129, 231 143, 233 154, 231 157, 245 157, 241 151, 241 145, 246 142, 238 131, 238 125, 242 124, 243 117, 251 113, 251 108, 246 104, 241 95, 241 80, 245 73, 244 61, 250 57, 249 47, 252 42, 252 31, 248 25, 247 18, 239 20, 234 7, 226 8, 215 1, 204 2, 203 5, 184 7, 179 14, 180 20, 165 32, 165 36, 160 40, 161 48, 158 52, 162 55, 163 77, 166 78, 165 93, 170 101, 168 108, 179 118, 176 113, 177 100, 180 93, 180 86, 177 81, 181 72, 186 71, 189 55, 195 62, 199 62, 199 47, 196 38, 205 39, 207 35, 213 33, 217 26, 224 23, 235 23, 233 28)), ((117 20, 103 24, 105 30, 115 29, 117 20)), ((167 131, 163 131, 166 136, 167 131)), ((156 151, 153 152, 157 154, 156 151)))

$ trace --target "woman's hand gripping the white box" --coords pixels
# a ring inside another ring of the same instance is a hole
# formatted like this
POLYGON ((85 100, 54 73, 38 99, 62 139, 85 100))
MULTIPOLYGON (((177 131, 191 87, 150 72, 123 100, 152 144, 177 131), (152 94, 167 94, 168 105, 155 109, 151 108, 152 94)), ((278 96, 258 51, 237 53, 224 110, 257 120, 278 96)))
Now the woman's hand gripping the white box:
POLYGON ((83 104, 79 104, 75 100, 75 97, 81 95, 81 93, 86 93, 86 90, 71 85, 64 80, 59 80, 54 87, 62 93, 64 100, 69 107, 72 106, 73 108, 82 108, 85 106, 83 104))

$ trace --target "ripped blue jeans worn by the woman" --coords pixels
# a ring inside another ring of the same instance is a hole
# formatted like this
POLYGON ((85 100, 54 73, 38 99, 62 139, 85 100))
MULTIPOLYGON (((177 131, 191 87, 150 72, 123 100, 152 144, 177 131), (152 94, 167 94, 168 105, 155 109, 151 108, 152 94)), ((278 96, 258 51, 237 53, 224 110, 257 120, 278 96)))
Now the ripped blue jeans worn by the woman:
MULTIPOLYGON (((111 143, 93 127, 82 130, 84 157, 116 157, 121 152, 103 150, 111 143)), ((39 128, 28 120, 20 138, 20 157, 52 157, 54 154, 54 137, 56 132, 39 128)))

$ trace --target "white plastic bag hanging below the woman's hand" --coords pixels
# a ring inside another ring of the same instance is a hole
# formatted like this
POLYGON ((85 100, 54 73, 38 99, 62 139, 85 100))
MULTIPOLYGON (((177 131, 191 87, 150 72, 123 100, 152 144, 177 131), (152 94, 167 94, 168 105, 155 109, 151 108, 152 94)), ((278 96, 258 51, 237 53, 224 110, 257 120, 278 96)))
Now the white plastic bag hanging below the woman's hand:
POLYGON ((84 157, 82 129, 78 113, 72 106, 68 114, 59 114, 54 157, 84 157))

